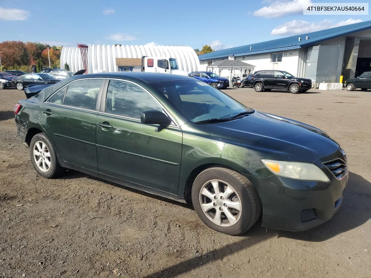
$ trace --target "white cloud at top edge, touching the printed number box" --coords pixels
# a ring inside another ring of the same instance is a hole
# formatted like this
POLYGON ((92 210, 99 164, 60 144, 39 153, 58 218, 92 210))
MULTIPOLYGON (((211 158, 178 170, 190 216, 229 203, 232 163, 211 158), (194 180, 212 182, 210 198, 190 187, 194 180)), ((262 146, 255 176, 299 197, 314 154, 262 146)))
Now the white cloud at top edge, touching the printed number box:
POLYGON ((303 5, 311 4, 311 0, 277 0, 253 12, 254 16, 268 18, 283 17, 288 14, 303 14, 303 5))

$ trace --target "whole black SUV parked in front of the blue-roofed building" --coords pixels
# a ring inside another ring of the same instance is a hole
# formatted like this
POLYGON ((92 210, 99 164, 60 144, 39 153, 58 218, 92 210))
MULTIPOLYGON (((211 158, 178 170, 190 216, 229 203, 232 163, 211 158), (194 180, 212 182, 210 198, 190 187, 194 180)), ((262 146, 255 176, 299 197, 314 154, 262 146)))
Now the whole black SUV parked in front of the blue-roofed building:
POLYGON ((312 88, 312 80, 295 77, 283 70, 259 70, 250 79, 249 87, 254 87, 256 92, 287 90, 290 93, 305 93, 312 88))

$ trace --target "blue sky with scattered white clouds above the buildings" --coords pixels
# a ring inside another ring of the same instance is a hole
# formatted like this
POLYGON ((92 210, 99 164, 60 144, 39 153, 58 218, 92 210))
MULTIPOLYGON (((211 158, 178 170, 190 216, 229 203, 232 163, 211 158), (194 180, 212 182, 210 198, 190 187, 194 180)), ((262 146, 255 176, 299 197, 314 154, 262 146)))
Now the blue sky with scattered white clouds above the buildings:
POLYGON ((303 3, 312 2, 335 1, 0 0, 0 42, 188 45, 194 49, 209 44, 220 50, 371 20, 370 15, 303 15, 303 3))

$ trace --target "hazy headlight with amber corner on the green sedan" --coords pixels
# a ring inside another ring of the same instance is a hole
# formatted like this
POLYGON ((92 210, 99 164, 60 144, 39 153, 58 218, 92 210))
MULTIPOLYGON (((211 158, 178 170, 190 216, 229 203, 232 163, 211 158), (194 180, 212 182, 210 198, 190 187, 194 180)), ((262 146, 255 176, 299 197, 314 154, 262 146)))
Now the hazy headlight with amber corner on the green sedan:
POLYGON ((304 162, 289 162, 262 159, 262 163, 274 174, 303 181, 329 182, 330 179, 316 165, 304 162))

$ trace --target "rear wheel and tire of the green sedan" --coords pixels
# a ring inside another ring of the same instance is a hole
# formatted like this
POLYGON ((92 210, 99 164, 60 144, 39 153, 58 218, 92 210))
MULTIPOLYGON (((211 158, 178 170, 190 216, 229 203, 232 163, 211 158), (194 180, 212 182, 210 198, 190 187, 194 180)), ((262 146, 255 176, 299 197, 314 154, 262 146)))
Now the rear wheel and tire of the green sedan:
POLYGON ((30 157, 36 172, 44 178, 55 178, 62 172, 63 168, 59 165, 55 147, 45 133, 37 133, 31 139, 30 157))

